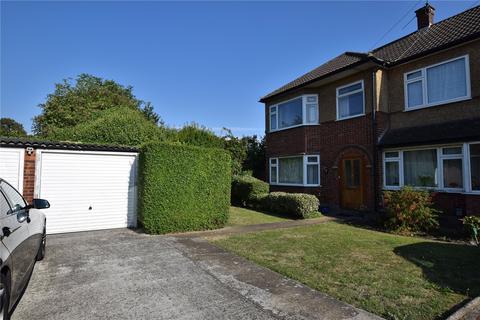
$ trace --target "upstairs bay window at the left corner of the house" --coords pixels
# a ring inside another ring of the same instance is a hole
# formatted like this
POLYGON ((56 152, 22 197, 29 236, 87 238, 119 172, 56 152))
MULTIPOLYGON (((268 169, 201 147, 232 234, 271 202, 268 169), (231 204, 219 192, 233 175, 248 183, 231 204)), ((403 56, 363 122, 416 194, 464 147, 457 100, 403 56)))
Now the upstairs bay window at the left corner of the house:
POLYGON ((269 107, 270 131, 318 124, 317 95, 303 95, 269 107))

